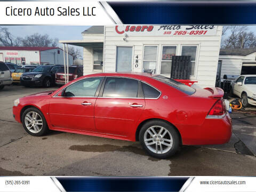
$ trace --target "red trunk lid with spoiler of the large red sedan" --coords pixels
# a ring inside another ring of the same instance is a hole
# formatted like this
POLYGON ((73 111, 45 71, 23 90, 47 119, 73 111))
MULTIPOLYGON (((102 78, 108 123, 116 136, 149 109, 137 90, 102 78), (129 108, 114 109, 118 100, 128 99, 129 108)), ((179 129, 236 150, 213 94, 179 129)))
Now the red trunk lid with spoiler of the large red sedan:
POLYGON ((193 94, 194 97, 203 97, 203 98, 214 98, 220 99, 224 95, 224 91, 219 87, 207 87, 204 89, 196 89, 196 92, 193 94))

